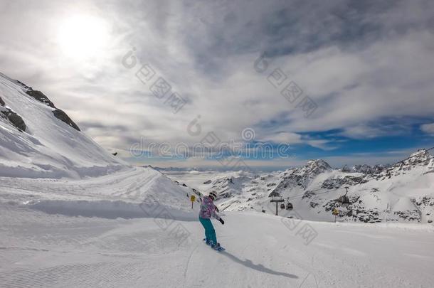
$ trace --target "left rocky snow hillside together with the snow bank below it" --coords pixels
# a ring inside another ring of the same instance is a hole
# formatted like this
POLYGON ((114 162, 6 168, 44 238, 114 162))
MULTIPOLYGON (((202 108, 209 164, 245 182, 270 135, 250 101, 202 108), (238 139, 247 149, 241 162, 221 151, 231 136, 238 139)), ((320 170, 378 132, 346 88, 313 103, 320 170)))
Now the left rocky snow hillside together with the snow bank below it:
POLYGON ((129 166, 108 153, 43 92, 4 74, 0 183, 0 203, 112 218, 147 217, 143 203, 191 213, 188 197, 200 196, 157 170, 129 166))

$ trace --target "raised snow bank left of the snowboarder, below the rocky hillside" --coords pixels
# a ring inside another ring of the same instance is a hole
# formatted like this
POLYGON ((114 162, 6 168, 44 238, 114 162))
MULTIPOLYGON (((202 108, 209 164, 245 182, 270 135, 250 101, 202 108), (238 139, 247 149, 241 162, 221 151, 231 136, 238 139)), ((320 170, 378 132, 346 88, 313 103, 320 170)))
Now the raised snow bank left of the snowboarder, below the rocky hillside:
MULTIPOLYGON (((132 168, 117 173, 85 179, 46 179, 0 177, 0 203, 59 210, 104 212, 117 207, 134 214, 144 201, 159 203, 172 210, 186 210, 181 201, 191 193, 159 171, 132 168), (89 207, 89 208, 87 208, 89 207)), ((150 204, 152 204, 150 203, 150 204)), ((148 203, 149 204, 149 203, 148 203)))

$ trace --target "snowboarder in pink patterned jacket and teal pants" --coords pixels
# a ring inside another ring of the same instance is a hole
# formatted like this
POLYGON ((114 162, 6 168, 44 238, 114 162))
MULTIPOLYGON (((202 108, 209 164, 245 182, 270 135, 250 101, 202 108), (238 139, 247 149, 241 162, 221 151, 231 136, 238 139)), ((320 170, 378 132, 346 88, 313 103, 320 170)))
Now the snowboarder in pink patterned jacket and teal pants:
POLYGON ((211 192, 209 196, 205 196, 201 202, 201 210, 199 212, 199 221, 205 228, 205 241, 206 244, 210 245, 215 250, 221 250, 220 243, 217 242, 216 230, 214 230, 213 223, 211 223, 211 217, 216 218, 221 224, 224 224, 222 218, 220 218, 216 211, 218 208, 214 205, 214 200, 216 200, 216 193, 211 192))

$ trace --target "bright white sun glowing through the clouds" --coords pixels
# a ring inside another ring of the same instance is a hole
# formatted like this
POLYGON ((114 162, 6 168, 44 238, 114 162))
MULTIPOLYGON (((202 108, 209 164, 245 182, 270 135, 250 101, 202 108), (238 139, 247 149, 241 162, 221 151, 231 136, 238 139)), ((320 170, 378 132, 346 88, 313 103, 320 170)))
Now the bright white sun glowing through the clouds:
POLYGON ((95 16, 70 16, 58 27, 58 46, 75 60, 97 57, 103 53, 108 38, 107 23, 95 16))

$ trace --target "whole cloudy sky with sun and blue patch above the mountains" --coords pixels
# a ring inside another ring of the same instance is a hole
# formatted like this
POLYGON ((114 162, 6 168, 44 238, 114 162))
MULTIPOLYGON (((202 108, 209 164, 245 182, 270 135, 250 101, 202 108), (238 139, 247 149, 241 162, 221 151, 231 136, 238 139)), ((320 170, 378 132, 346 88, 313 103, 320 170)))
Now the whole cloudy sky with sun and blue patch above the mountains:
POLYGON ((0 14, 0 71, 132 164, 340 167, 434 146, 434 1, 2 0, 0 14))

